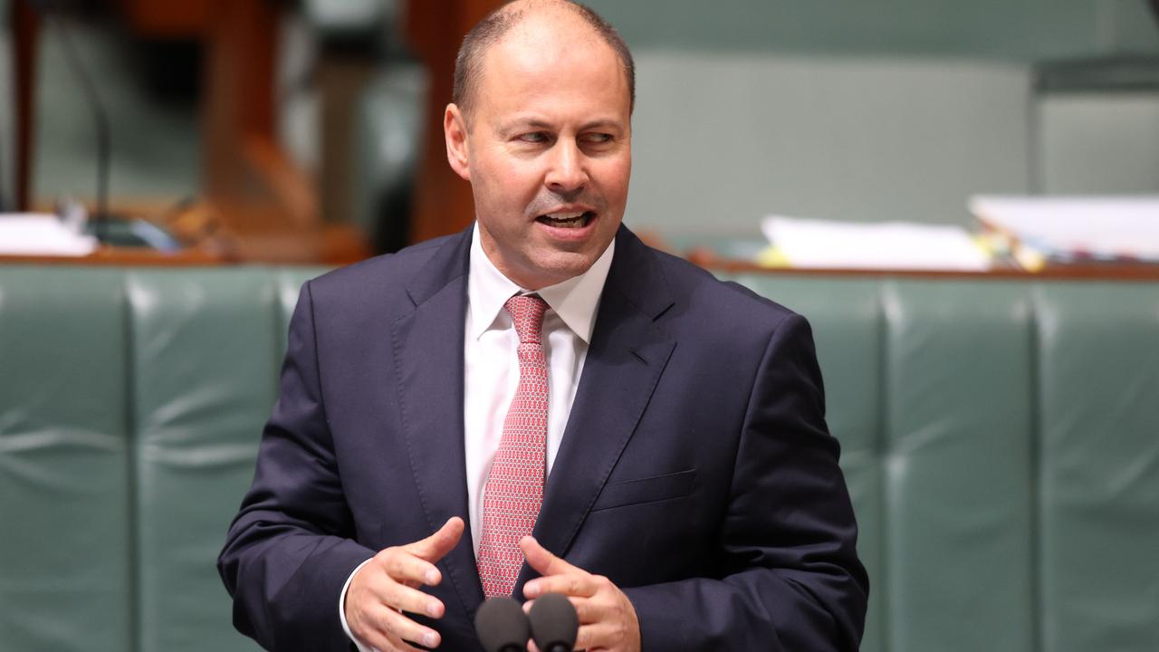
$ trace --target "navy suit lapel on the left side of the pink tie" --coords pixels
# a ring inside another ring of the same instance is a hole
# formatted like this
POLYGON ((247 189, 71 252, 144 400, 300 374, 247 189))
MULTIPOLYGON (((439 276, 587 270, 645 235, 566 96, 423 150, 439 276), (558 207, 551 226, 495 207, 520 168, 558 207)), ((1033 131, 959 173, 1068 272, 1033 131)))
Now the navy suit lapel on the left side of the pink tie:
MULTIPOLYGON (((391 328, 407 454, 431 533, 468 521, 462 342, 471 232, 447 240, 407 288, 414 311, 391 328)), ((471 523, 443 565, 467 614, 483 600, 471 523)))

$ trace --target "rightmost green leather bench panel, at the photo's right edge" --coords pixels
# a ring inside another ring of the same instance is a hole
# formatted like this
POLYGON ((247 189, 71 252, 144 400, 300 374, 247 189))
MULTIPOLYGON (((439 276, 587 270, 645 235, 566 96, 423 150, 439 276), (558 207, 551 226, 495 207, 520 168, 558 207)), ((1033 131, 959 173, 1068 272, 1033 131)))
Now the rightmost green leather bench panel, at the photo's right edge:
POLYGON ((1159 289, 1035 303, 1044 649, 1159 650, 1159 289))

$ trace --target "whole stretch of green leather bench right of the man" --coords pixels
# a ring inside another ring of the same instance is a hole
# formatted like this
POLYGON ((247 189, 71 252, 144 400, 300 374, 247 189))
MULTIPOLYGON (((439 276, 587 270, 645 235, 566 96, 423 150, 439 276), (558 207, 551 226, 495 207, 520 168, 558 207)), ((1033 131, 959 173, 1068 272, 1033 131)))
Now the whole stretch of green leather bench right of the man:
POLYGON ((737 281, 814 324, 862 650, 1159 650, 1159 283, 737 281))

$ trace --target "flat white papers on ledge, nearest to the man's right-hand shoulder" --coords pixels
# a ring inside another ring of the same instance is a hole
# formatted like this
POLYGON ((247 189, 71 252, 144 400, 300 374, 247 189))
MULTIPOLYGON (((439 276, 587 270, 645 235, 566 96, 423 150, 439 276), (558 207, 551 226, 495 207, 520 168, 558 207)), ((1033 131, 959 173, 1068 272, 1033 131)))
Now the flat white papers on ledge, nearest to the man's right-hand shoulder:
POLYGON ((960 226, 854 223, 771 215, 765 237, 792 267, 982 271, 990 256, 960 226))

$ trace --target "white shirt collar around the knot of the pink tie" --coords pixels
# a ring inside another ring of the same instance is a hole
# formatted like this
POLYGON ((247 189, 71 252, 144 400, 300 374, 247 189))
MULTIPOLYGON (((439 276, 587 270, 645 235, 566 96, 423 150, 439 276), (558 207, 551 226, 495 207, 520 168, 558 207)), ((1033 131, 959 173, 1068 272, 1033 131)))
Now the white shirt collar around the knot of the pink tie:
MULTIPOLYGON (((535 291, 547 302, 548 307, 560 316, 563 324, 585 343, 591 343, 591 332, 596 327, 596 309, 599 306, 599 296, 604 292, 604 282, 607 281, 614 252, 615 240, 612 240, 588 271, 535 291)), ((478 222, 471 237, 469 265, 467 302, 471 304, 472 332, 468 334, 478 340, 495 324, 503 304, 512 295, 529 290, 512 283, 483 253, 478 222)))

